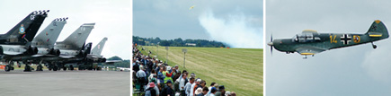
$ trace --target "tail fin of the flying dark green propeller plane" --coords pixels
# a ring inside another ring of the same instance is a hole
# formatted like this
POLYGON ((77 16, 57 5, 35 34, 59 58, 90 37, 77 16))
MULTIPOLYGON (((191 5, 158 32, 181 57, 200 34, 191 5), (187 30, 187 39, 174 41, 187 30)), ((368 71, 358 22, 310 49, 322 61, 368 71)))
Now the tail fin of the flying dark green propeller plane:
POLYGON ((377 38, 377 39, 388 38, 387 27, 380 20, 376 20, 375 22, 373 22, 372 25, 369 27, 369 31, 365 34, 369 35, 369 37, 371 38, 377 38))

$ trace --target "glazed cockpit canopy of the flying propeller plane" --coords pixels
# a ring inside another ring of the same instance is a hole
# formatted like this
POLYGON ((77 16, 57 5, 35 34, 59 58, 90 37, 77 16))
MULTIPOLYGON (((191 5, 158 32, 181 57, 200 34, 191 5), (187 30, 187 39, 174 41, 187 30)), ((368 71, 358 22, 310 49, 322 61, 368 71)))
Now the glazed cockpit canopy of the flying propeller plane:
POLYGON ((313 30, 305 30, 302 33, 295 35, 292 38, 293 42, 315 42, 320 41, 321 39, 318 36, 318 33, 313 30))

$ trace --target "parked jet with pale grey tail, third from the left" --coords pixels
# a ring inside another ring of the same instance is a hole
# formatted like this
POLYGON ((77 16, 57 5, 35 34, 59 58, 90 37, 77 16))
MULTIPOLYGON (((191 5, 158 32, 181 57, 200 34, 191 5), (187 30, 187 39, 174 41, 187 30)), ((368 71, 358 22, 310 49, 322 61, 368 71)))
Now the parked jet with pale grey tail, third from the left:
MULTIPOLYGON (((91 47, 90 49, 84 48, 84 42, 93 30, 94 25, 95 23, 84 23, 67 39, 57 42, 54 49, 59 49, 60 55, 58 57, 44 57, 41 59, 42 62, 49 64, 49 70, 57 71, 59 68, 67 70, 67 67, 63 66, 68 60, 72 61, 80 57, 86 57, 90 53, 87 50, 91 50, 91 47)), ((87 44, 87 46, 91 46, 91 44, 87 44)))

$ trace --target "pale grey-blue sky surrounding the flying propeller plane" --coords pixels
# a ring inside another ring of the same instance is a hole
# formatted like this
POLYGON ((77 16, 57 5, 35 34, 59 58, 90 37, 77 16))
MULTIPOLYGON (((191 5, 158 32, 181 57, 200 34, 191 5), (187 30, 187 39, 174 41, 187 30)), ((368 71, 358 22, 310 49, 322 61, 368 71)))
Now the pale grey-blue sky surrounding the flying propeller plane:
MULTIPOLYGON (((388 0, 267 0, 266 39, 291 38, 303 30, 365 33, 375 20, 391 28, 388 0)), ((389 30, 389 29, 388 29, 389 30)), ((302 59, 265 46, 266 95, 384 96, 391 94, 391 39, 337 48, 302 59)))

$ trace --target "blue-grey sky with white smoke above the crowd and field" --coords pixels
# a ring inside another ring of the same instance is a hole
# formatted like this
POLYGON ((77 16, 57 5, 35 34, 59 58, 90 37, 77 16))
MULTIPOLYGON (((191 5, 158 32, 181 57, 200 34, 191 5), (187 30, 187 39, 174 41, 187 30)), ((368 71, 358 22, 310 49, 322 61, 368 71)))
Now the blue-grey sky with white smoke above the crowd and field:
POLYGON ((134 36, 262 48, 262 0, 134 0, 133 5, 134 36))

